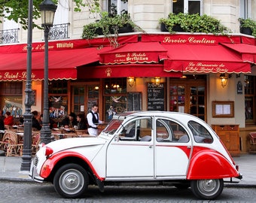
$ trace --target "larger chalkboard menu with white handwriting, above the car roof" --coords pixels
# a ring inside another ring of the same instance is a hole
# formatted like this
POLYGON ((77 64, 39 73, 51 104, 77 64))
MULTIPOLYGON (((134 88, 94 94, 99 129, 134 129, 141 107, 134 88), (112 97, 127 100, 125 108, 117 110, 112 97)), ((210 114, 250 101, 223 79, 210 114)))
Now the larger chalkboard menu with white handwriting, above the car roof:
POLYGON ((148 83, 148 111, 164 111, 164 84, 148 83))

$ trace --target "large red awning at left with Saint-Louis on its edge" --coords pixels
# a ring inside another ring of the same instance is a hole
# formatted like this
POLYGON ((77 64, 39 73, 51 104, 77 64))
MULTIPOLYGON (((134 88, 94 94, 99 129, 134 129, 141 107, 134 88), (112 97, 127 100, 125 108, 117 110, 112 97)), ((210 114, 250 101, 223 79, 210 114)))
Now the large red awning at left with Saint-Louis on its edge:
MULTIPOLYGON (((96 47, 49 50, 49 80, 77 79, 76 68, 99 61, 96 47)), ((27 53, 0 53, 0 80, 26 80, 27 53)), ((44 79, 44 52, 32 52, 32 80, 44 79)))

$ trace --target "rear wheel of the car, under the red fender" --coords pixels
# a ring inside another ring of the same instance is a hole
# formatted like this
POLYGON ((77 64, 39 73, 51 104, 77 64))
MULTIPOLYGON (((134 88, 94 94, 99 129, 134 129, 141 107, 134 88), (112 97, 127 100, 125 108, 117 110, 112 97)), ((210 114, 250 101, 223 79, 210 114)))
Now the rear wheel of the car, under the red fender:
POLYGON ((190 186, 197 198, 210 200, 221 195, 224 188, 224 182, 223 179, 192 180, 190 186))

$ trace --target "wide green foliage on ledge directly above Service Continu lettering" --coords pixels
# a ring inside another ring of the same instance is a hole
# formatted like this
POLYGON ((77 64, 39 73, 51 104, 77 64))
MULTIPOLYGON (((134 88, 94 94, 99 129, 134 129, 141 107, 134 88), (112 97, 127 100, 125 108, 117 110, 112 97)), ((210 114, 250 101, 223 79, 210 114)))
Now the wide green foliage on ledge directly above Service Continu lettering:
POLYGON ((209 17, 206 14, 169 14, 167 18, 160 18, 159 23, 166 25, 170 33, 174 33, 174 26, 181 26, 184 32, 205 32, 212 34, 227 35, 230 29, 222 25, 220 20, 209 17))

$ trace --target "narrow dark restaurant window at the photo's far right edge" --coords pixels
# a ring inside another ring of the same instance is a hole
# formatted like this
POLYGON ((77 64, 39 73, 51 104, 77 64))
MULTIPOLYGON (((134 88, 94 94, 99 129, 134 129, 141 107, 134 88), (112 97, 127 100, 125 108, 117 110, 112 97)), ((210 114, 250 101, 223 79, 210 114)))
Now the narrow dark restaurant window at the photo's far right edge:
POLYGON ((255 124, 255 105, 256 98, 256 77, 251 75, 245 75, 245 124, 255 124))

